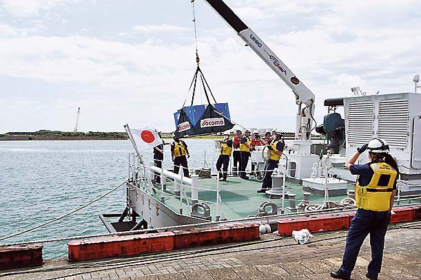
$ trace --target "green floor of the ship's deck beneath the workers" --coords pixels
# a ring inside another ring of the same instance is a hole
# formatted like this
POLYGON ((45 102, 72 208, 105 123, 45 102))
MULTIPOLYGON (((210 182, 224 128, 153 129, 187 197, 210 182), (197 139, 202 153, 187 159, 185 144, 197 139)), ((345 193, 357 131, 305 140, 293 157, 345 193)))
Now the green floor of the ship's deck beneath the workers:
MULTIPOLYGON (((243 180, 240 177, 229 176, 227 181, 220 181, 220 218, 221 219, 244 219, 249 216, 256 216, 258 214, 258 208, 263 202, 273 202, 281 208, 282 198, 269 198, 264 193, 256 193, 262 182, 254 180, 253 176, 249 177, 250 180, 243 180)), ((205 202, 211 209, 212 220, 215 220, 216 216, 216 176, 212 178, 199 180, 199 202, 205 202)), ((302 186, 300 184, 294 184, 292 182, 286 182, 285 193, 296 194, 296 206, 303 199, 302 186)), ((160 199, 161 197, 161 186, 155 185, 156 194, 154 197, 160 199)), ((347 190, 353 189, 353 184, 347 185, 347 190)), ((187 197, 191 197, 190 186, 185 186, 185 192, 187 197)), ((168 181, 166 184, 166 190, 164 192, 165 205, 172 209, 172 211, 179 213, 180 209, 180 197, 174 195, 174 182, 168 181)), ((329 196, 329 201, 340 202, 347 195, 336 195, 329 196)), ((322 204, 324 200, 323 196, 311 194, 309 197, 309 204, 322 204)), ((189 202, 191 206, 191 202, 189 202)), ((289 210, 289 200, 285 197, 285 213, 291 213, 289 210)), ((183 199, 183 214, 188 213, 187 202, 183 199)), ((270 209, 270 208, 269 208, 270 209)))

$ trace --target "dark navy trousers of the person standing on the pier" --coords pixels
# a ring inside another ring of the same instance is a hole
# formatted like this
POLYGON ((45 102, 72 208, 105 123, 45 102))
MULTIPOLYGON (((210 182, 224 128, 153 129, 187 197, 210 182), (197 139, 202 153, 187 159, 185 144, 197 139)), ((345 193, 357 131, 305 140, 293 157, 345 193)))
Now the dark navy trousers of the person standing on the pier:
POLYGON ((351 276, 362 242, 370 234, 371 261, 368 272, 371 277, 378 276, 382 268, 384 235, 389 222, 389 211, 357 210, 349 226, 340 274, 351 276))

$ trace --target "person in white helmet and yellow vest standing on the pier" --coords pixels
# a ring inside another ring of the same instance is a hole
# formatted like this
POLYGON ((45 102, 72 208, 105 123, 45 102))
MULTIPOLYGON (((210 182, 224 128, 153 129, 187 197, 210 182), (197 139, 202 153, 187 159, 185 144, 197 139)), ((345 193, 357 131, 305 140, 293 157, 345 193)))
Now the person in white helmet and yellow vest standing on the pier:
POLYGON ((378 279, 382 267, 384 235, 396 195, 398 164, 390 155, 387 142, 374 138, 358 148, 345 166, 353 175, 359 175, 355 186, 358 210, 349 226, 342 266, 338 271, 331 272, 331 277, 351 278, 362 242, 370 234, 371 261, 366 277, 378 279), (354 164, 365 150, 369 151, 371 161, 367 164, 354 164))

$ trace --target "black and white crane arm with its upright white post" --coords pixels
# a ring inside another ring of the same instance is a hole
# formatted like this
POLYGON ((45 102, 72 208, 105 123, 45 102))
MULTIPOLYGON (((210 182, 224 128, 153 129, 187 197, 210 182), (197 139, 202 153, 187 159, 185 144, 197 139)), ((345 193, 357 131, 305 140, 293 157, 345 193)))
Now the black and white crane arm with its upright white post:
MULTIPOLYGON (((193 0, 194 1, 194 0, 193 0)), ((297 76, 272 52, 269 47, 225 4, 223 0, 205 0, 241 37, 251 50, 254 50, 265 63, 288 85, 296 96, 298 113, 296 120, 296 138, 310 138, 314 112, 314 94, 297 76), (305 108, 301 109, 301 105, 305 108), (303 131, 305 129, 305 131, 303 131), (304 133, 305 132, 305 133, 304 133)))

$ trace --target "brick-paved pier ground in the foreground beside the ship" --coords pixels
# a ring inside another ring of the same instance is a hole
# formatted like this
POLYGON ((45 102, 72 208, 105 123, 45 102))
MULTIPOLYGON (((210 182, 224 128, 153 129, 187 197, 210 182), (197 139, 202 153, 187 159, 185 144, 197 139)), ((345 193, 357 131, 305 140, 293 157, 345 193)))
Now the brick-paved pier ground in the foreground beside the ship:
MULTIPOLYGON (((346 231, 314 235, 308 244, 291 238, 261 235, 263 242, 224 244, 178 250, 164 255, 68 263, 46 260, 31 270, 0 270, 1 279, 331 279, 329 272, 342 261, 346 231), (240 246, 241 245, 241 246, 240 246), (214 250, 218 248, 218 250, 214 250), (209 249, 207 252, 203 249, 209 249), (200 251, 198 251, 200 250, 200 251), (19 273, 23 274, 8 274, 19 273)), ((366 279, 369 237, 351 279, 366 279)), ((379 279, 421 279, 421 224, 389 229, 379 279)))

